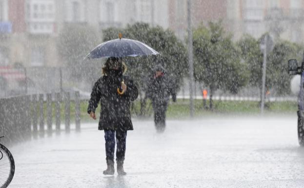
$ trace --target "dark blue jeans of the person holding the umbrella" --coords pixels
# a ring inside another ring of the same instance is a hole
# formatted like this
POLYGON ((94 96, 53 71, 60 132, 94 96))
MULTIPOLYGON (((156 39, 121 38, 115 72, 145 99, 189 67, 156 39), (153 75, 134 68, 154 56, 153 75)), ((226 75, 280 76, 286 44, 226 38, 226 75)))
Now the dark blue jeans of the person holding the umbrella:
POLYGON ((116 161, 123 161, 125 154, 126 130, 104 130, 106 161, 114 161, 116 133, 116 161))

